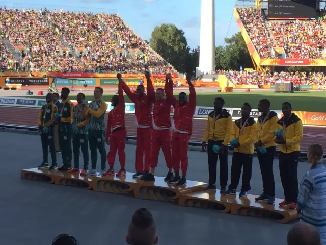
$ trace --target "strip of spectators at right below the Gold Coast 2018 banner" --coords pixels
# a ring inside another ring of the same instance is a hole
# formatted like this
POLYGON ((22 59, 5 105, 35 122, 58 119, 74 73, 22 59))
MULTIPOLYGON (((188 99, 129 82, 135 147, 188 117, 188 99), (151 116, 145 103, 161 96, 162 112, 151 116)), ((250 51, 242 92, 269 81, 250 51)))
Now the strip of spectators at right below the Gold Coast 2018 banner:
POLYGON ((326 85, 326 76, 323 72, 281 71, 271 73, 256 70, 219 70, 216 72, 226 75, 232 83, 238 85, 274 85, 278 80, 291 81, 294 85, 326 85))

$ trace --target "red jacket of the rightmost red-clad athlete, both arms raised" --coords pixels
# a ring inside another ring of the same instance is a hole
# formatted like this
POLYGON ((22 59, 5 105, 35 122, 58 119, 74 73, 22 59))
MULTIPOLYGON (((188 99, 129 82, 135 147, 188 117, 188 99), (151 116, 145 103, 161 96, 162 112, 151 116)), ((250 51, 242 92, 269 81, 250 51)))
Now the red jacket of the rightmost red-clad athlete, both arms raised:
MULTIPOLYGON (((169 82, 170 84, 171 82, 169 82)), ((167 85, 166 85, 167 86, 167 85)), ((181 106, 179 101, 173 96, 173 92, 166 89, 167 99, 174 107, 174 125, 177 130, 193 133, 193 116, 196 110, 196 90, 194 85, 189 86, 189 101, 181 106)))

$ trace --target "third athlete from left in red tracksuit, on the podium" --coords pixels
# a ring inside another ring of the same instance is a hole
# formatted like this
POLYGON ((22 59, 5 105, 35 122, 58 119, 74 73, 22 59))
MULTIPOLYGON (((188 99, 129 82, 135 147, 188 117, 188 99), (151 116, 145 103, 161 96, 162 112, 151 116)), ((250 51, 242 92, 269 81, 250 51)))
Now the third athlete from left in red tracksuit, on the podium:
MULTIPOLYGON (((171 74, 166 76, 165 90, 173 91, 173 82, 168 84, 171 79, 171 74)), ((159 150, 162 147, 167 167, 169 168, 168 175, 165 181, 170 181, 174 178, 172 173, 172 155, 171 155, 171 103, 164 99, 165 90, 162 88, 156 89, 155 102, 153 106, 153 130, 152 130, 152 157, 151 157, 151 173, 143 176, 144 181, 154 181, 155 167, 158 163, 159 150)))

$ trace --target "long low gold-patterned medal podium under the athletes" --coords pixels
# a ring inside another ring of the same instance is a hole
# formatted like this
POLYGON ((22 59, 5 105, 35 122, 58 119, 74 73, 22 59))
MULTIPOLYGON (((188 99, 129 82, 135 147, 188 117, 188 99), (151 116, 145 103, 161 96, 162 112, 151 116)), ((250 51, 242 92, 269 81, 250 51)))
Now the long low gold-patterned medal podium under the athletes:
MULTIPOLYGON (((126 194, 138 199, 164 201, 185 207, 212 208, 221 213, 233 215, 266 217, 288 223, 298 219, 296 210, 279 207, 283 200, 276 199, 274 205, 256 202, 255 195, 239 198, 239 195, 223 195, 220 190, 203 191, 206 183, 187 180, 184 186, 176 186, 164 181, 163 177, 155 177, 155 181, 144 182, 133 179, 133 173, 126 176, 80 176, 79 173, 68 174, 48 169, 24 169, 20 178, 38 180, 55 185, 76 186, 96 192, 126 194)), ((73 189, 71 189, 73 191, 73 189)), ((195 210, 194 210, 195 211, 195 210)))

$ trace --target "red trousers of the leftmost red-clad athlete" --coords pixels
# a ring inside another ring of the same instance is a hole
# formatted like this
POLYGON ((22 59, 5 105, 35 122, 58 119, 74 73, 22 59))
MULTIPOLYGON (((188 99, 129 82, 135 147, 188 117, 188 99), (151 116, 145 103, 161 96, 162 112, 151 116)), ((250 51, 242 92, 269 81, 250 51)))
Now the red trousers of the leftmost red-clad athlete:
POLYGON ((116 154, 118 151, 119 161, 121 168, 126 165, 126 153, 124 151, 126 146, 126 129, 116 129, 111 133, 110 136, 110 151, 107 154, 107 162, 109 166, 114 166, 116 160, 116 154))

